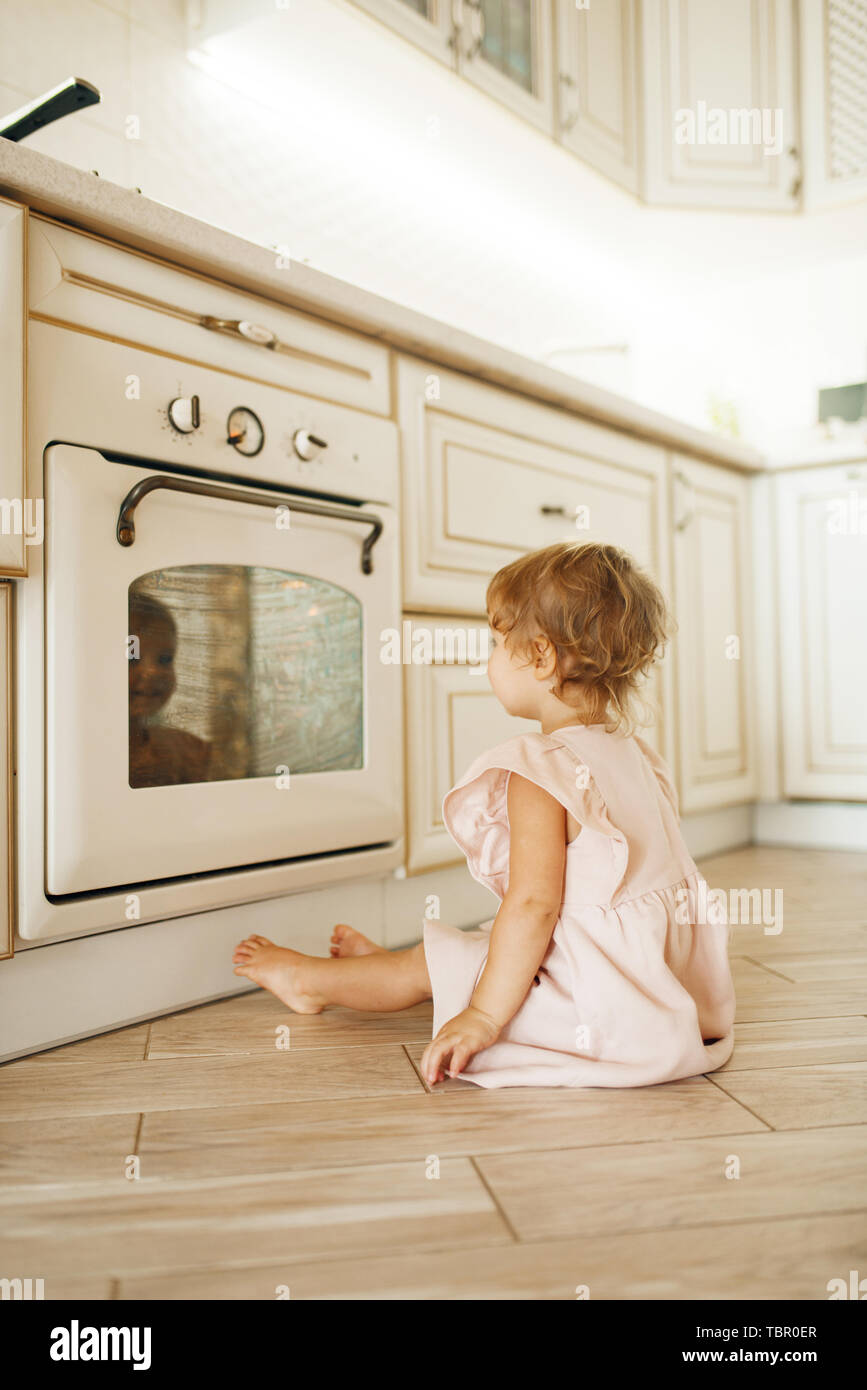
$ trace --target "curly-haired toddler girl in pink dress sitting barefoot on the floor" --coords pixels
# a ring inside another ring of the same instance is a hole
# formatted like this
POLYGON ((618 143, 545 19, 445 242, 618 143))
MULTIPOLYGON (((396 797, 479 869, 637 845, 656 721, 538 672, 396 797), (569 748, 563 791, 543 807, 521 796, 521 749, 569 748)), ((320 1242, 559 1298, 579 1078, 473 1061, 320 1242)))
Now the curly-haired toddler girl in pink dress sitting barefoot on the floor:
POLYGON ((475 931, 427 922, 385 951, 338 926, 332 959, 249 937, 235 973, 299 1013, 434 998, 421 1069, 478 1086, 647 1086, 732 1051, 724 923, 696 924, 702 883, 663 759, 629 730, 667 637, 656 585, 611 545, 552 545, 488 588, 488 676, 536 720, 478 758, 443 819, 500 899, 475 931))

